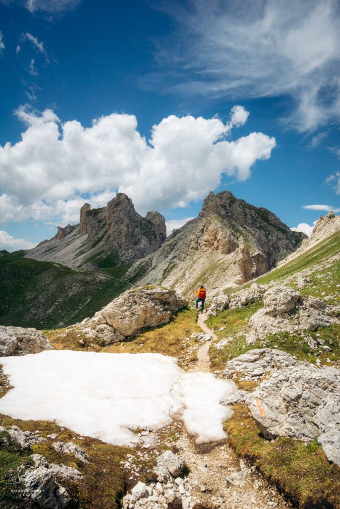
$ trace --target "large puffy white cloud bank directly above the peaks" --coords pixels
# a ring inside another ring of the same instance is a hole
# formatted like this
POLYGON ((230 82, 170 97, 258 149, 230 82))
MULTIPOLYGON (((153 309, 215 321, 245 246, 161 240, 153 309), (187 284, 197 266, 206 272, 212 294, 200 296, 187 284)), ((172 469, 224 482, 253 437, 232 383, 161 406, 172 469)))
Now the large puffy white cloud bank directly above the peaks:
POLYGON ((260 132, 228 140, 247 116, 238 108, 226 124, 171 115, 147 141, 134 115, 114 113, 83 127, 76 120, 62 124, 49 109, 37 115, 21 107, 21 140, 0 146, 0 220, 71 221, 84 197, 101 203, 113 190, 128 194, 141 213, 168 210, 201 199, 223 175, 246 180, 276 142, 260 132))

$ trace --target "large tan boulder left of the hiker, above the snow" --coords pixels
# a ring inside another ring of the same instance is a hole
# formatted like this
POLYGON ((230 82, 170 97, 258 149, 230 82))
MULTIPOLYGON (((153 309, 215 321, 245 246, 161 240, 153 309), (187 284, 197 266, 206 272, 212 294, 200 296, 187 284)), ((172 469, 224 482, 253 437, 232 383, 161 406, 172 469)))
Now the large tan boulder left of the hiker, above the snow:
POLYGON ((80 328, 87 336, 100 338, 108 345, 124 341, 144 327, 169 322, 174 313, 187 305, 185 297, 174 290, 134 288, 103 307, 93 318, 83 320, 80 328))

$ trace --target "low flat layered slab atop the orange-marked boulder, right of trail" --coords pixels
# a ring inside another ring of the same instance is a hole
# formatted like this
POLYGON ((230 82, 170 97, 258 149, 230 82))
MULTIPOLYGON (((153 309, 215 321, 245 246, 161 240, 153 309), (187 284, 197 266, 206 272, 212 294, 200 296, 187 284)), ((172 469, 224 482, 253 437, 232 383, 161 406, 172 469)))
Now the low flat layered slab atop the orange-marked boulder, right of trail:
POLYGON ((295 366, 298 360, 289 353, 274 348, 257 348, 239 357, 229 360, 223 375, 232 378, 243 373, 246 380, 259 379, 282 370, 284 367, 295 366))

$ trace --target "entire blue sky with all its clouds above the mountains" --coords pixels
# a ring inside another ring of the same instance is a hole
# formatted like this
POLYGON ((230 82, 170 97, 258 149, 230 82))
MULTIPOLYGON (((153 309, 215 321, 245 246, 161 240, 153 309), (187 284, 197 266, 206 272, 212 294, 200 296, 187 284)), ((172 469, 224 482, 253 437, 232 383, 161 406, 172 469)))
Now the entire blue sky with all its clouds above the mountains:
POLYGON ((117 190, 169 229, 229 189, 310 232, 340 211, 339 43, 331 0, 0 0, 0 249, 117 190))

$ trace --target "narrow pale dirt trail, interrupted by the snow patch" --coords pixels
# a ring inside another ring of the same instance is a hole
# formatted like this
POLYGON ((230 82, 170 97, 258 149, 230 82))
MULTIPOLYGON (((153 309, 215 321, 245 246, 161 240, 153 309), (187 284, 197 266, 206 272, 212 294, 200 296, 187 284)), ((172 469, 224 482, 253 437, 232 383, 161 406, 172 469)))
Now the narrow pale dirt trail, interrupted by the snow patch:
MULTIPOLYGON (((214 332, 204 323, 206 315, 198 315, 198 325, 204 333, 216 339, 214 332)), ((198 361, 193 371, 210 371, 208 350, 211 342, 205 342, 197 353, 198 361)), ((224 440, 219 443, 197 445, 180 422, 176 447, 190 469, 188 476, 191 494, 204 507, 223 509, 283 509, 289 504, 266 480, 240 461, 224 440), (231 482, 227 477, 231 477, 231 482)))

